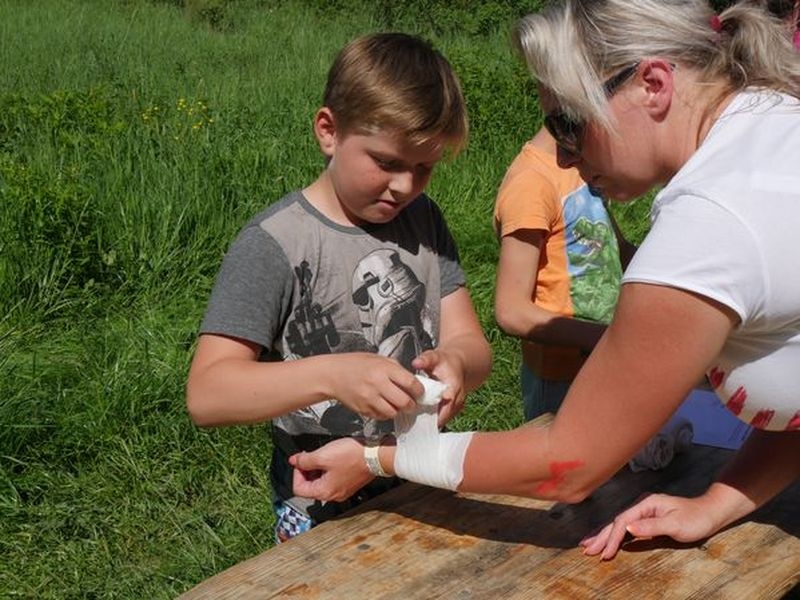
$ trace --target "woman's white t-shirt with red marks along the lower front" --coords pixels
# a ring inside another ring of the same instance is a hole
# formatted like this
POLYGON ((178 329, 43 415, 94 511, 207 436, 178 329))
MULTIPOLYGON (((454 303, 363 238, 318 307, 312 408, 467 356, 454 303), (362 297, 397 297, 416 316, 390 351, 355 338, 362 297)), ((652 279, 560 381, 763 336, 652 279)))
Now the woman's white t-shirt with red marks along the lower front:
POLYGON ((658 194, 623 277, 680 288, 741 324, 709 369, 740 419, 800 430, 800 101, 740 93, 658 194))

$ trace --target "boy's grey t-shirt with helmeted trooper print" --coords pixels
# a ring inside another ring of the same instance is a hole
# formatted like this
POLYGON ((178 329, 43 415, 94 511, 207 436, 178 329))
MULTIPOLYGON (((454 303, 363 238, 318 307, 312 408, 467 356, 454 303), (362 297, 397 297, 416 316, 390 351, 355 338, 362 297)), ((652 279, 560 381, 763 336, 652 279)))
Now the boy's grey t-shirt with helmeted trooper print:
MULTIPOLYGON (((292 192, 231 245, 201 333, 255 342, 278 360, 375 352, 410 369, 438 343, 441 299, 464 283, 453 238, 427 196, 389 223, 345 227, 292 192)), ((392 426, 333 398, 273 423, 289 435, 334 437, 373 436, 392 426)))

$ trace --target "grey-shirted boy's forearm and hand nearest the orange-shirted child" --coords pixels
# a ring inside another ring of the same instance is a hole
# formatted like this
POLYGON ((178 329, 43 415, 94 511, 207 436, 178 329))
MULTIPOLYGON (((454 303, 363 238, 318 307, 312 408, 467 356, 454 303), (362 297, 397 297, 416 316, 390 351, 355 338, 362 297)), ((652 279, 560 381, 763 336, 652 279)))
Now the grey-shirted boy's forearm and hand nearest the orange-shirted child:
POLYGON ((466 395, 486 381, 492 350, 466 288, 442 298, 439 345, 420 354, 412 366, 448 385, 442 396, 440 425, 457 415, 466 395))

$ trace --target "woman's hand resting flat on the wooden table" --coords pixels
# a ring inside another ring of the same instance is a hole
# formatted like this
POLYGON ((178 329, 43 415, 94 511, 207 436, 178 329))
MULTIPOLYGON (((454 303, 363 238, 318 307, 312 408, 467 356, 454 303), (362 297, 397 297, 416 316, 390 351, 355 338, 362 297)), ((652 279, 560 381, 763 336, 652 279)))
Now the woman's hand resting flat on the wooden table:
POLYGON ((679 542, 705 539, 718 529, 714 506, 704 497, 680 498, 653 494, 620 513, 600 533, 581 541, 583 553, 600 554, 603 560, 614 558, 626 533, 649 539, 666 535, 679 542))

